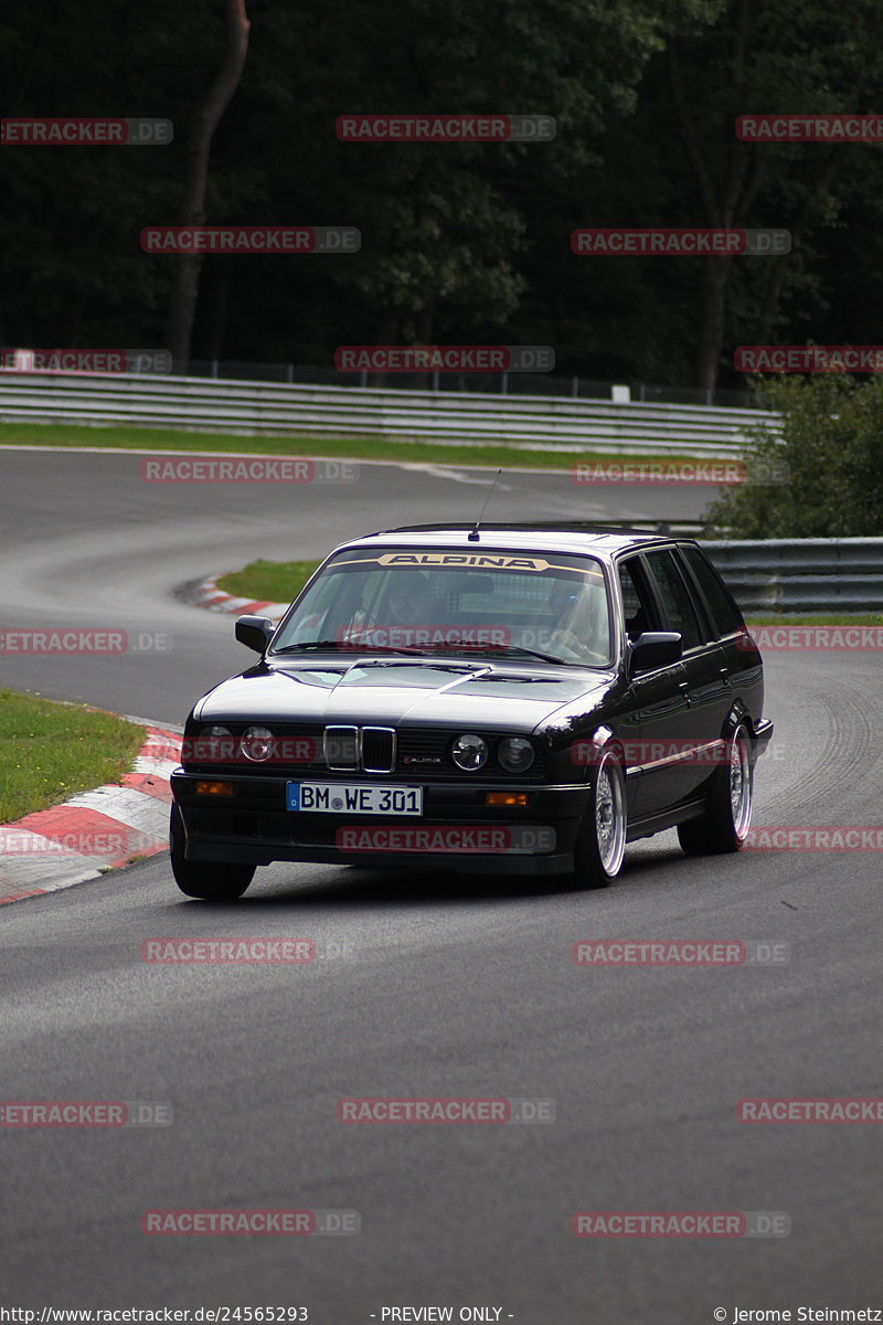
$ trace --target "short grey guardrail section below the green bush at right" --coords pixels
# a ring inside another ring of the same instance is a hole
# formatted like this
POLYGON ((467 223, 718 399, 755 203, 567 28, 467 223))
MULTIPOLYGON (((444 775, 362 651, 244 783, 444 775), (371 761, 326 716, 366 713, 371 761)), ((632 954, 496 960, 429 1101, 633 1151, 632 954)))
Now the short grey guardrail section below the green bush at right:
POLYGON ((883 538, 702 545, 745 615, 883 612, 883 538))

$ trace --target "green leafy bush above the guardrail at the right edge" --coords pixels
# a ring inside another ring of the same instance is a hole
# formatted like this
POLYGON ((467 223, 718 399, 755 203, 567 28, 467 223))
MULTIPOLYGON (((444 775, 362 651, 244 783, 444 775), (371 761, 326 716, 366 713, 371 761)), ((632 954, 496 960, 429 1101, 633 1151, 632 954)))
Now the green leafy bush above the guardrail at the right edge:
POLYGON ((711 506, 706 537, 882 537, 883 380, 765 380, 761 399, 781 413, 781 440, 756 429, 745 460, 749 469, 786 466, 788 481, 731 488, 711 506))

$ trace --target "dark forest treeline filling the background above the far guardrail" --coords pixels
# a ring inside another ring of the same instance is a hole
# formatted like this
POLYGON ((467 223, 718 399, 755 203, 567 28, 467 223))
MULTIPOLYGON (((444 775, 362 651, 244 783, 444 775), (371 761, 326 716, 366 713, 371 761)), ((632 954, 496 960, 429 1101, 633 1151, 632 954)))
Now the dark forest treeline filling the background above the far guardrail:
MULTIPOLYGON (((4 346, 167 346, 188 135, 229 0, 0 16, 3 114, 167 117, 164 147, 0 150, 4 346)), ((330 256, 208 256, 191 355, 330 366, 342 343, 551 344, 557 371, 741 386, 741 343, 876 343, 883 147, 752 144, 749 113, 871 113, 854 0, 246 0, 205 220, 357 225, 330 256), (355 113, 549 114, 547 144, 357 144, 355 113), (576 257, 581 225, 780 227, 786 257, 576 257)))

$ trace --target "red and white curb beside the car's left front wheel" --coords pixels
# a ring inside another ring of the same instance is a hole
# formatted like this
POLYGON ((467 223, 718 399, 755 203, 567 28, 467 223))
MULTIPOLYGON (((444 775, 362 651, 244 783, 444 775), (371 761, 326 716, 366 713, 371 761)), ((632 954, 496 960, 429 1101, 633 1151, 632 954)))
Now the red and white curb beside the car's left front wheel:
POLYGON ((73 888, 132 856, 167 851, 168 779, 180 762, 180 734, 147 726, 135 766, 120 783, 0 825, 0 905, 73 888))

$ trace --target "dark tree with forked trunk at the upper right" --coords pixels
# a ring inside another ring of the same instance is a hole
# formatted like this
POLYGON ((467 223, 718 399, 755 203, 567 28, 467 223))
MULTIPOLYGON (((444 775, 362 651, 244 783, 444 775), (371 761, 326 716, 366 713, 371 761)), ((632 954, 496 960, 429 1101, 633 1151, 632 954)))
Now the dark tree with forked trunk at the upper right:
POLYGON ((793 238, 792 252, 780 258, 703 260, 695 375, 700 388, 712 391, 718 382, 736 265, 753 262, 765 270, 753 330, 757 338, 769 337, 789 276, 800 278, 813 231, 833 224, 843 207, 849 182, 838 176, 847 174, 849 155, 868 150, 740 142, 737 117, 870 110, 883 73, 882 49, 876 0, 857 0, 849 24, 831 23, 829 7, 804 0, 729 0, 711 25, 670 42, 671 105, 696 215, 706 225, 784 227, 793 238))

